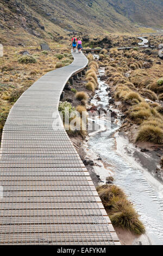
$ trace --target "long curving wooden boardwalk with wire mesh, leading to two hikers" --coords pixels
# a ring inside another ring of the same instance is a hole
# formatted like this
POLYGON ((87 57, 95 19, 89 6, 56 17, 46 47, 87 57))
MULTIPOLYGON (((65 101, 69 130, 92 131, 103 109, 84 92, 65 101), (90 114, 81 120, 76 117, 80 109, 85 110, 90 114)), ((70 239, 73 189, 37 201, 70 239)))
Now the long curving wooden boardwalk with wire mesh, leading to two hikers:
POLYGON ((1 245, 120 245, 58 112, 68 79, 87 65, 73 56, 24 92, 5 123, 1 245))

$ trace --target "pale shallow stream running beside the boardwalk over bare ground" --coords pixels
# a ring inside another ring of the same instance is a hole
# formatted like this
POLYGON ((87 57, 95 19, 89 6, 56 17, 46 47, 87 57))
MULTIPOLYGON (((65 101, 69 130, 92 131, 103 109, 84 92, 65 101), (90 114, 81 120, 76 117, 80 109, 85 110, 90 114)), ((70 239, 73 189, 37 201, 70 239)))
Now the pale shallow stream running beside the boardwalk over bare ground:
MULTIPOLYGON (((91 103, 95 106, 100 104, 107 109, 110 98, 106 92, 108 86, 101 81, 102 75, 104 70, 100 69, 99 89, 91 103), (96 100, 97 95, 101 100, 96 100)), ((152 244, 163 245, 163 185, 150 173, 154 159, 152 155, 141 153, 140 149, 128 142, 127 137, 117 131, 121 126, 120 113, 118 116, 111 124, 111 129, 90 136, 88 149, 100 155, 109 164, 116 184, 123 188, 140 214, 152 244)), ((107 172, 101 173, 103 181, 107 176, 107 172)))

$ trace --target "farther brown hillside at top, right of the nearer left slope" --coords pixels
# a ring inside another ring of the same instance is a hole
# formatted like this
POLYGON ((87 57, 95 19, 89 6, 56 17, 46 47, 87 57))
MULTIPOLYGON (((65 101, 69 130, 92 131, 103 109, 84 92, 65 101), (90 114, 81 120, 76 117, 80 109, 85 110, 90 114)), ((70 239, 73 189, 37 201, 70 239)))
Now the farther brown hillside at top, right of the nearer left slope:
POLYGON ((51 13, 48 19, 57 17, 59 25, 69 30, 96 34, 136 31, 136 23, 162 25, 161 0, 43 0, 39 5, 36 0, 26 2, 42 15, 51 13))

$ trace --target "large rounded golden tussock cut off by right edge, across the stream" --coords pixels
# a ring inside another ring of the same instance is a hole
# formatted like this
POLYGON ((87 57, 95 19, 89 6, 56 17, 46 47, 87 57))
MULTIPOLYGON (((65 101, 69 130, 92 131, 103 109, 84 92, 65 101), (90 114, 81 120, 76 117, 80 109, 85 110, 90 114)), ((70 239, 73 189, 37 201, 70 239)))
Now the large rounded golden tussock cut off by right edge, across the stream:
POLYGON ((163 130, 159 126, 143 125, 136 137, 136 142, 163 143, 163 130))

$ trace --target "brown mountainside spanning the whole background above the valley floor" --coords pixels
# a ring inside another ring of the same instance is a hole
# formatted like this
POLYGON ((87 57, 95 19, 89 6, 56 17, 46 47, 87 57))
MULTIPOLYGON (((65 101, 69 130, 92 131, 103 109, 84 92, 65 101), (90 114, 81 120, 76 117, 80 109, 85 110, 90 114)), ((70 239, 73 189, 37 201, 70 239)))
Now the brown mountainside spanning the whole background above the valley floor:
POLYGON ((0 0, 1 42, 86 33, 138 33, 161 27, 162 0, 0 0))

